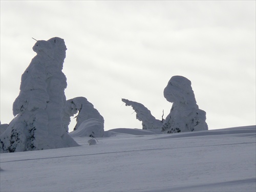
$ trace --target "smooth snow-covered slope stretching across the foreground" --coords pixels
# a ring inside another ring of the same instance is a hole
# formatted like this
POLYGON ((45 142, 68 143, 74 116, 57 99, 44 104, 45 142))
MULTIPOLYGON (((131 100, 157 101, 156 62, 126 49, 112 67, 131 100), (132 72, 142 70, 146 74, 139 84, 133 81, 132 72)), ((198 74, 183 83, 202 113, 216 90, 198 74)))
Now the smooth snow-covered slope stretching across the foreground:
POLYGON ((159 134, 114 129, 89 145, 1 154, 1 191, 255 191, 255 125, 159 134))

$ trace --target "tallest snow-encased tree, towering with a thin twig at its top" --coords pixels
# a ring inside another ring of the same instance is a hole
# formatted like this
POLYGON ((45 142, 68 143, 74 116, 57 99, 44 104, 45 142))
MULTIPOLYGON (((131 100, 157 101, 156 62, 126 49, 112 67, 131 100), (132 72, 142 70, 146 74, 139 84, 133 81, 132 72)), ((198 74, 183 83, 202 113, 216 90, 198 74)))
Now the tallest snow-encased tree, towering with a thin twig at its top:
POLYGON ((33 46, 37 55, 22 75, 20 92, 13 103, 15 118, 1 135, 1 153, 79 146, 62 122, 66 50, 59 37, 38 40, 33 46))

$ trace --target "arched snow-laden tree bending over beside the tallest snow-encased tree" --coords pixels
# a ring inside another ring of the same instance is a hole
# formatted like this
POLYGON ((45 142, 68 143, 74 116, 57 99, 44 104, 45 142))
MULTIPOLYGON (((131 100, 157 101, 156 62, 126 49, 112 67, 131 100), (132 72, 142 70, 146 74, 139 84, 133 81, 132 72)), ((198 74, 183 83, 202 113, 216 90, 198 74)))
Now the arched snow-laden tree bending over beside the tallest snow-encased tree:
POLYGON ((75 97, 73 99, 69 99, 66 102, 66 108, 63 115, 63 124, 66 131, 69 131, 70 117, 74 116, 78 112, 76 116, 76 125, 74 127, 74 131, 78 129, 80 124, 88 119, 98 119, 102 124, 104 124, 104 118, 100 115, 98 110, 96 110, 91 102, 87 100, 85 97, 75 97))

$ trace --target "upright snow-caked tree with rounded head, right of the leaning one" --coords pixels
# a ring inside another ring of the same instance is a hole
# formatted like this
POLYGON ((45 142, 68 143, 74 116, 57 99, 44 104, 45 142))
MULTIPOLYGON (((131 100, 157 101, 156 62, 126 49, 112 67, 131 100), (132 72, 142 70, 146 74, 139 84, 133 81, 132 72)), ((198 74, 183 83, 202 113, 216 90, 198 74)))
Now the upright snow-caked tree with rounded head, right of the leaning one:
POLYGON ((206 113, 198 108, 190 80, 183 76, 173 76, 164 89, 164 97, 173 106, 162 125, 162 132, 208 130, 206 113))

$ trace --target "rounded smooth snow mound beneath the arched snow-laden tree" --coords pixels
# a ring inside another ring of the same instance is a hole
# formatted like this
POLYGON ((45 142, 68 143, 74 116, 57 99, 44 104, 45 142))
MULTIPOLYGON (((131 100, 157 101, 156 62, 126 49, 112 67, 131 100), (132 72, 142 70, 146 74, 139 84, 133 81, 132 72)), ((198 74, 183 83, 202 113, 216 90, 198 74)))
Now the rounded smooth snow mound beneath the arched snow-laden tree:
POLYGON ((77 130, 70 132, 71 137, 103 137, 104 125, 98 119, 83 121, 77 130))

